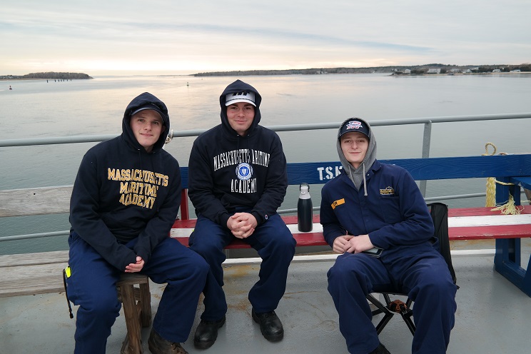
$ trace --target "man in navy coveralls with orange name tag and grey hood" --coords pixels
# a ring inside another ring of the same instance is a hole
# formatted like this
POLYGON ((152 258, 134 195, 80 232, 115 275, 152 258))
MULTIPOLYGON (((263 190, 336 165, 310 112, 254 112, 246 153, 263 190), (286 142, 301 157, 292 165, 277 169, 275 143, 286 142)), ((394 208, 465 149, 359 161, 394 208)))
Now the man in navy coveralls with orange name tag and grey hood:
POLYGON ((349 353, 389 353, 365 295, 397 288, 415 301, 412 353, 446 353, 457 287, 433 247, 433 221, 417 184, 404 168, 376 159, 375 136, 360 118, 341 124, 336 147, 343 171, 323 186, 320 223, 341 255, 328 271, 328 291, 349 353))

